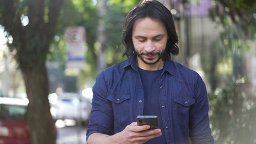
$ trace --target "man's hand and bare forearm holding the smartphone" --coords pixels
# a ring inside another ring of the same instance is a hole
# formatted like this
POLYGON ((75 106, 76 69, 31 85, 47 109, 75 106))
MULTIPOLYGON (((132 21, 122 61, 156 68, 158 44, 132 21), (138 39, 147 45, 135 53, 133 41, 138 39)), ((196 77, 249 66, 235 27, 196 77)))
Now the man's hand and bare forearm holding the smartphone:
POLYGON ((120 133, 108 136, 106 134, 93 133, 88 137, 88 144, 96 143, 121 143, 121 144, 141 144, 150 139, 162 135, 160 128, 149 130, 150 125, 137 125, 137 122, 127 125, 120 133))

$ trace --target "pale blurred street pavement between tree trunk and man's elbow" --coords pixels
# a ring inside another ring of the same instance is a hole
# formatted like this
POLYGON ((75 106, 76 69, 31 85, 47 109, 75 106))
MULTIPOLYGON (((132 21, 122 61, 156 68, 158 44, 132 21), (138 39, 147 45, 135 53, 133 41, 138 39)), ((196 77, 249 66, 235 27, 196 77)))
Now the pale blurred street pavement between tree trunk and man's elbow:
POLYGON ((57 144, 86 144, 86 127, 69 126, 58 128, 57 144))

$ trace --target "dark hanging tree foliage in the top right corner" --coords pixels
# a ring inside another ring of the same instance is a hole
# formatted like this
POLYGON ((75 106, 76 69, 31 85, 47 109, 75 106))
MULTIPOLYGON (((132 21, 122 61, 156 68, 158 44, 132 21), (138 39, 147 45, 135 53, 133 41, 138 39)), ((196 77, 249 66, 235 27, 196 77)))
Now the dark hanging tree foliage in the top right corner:
POLYGON ((245 40, 245 38, 254 37, 256 1, 212 0, 212 4, 211 16, 213 21, 221 22, 224 28, 227 28, 231 22, 235 38, 245 40), (228 19, 230 19, 230 22, 228 19))

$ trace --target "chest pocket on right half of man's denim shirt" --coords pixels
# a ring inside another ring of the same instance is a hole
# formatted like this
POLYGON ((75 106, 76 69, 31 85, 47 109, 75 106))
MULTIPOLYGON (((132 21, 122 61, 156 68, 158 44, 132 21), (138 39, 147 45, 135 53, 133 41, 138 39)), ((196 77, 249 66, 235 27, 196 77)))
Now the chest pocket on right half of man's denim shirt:
POLYGON ((188 128, 190 107, 195 104, 194 97, 174 97, 175 120, 178 124, 188 128))

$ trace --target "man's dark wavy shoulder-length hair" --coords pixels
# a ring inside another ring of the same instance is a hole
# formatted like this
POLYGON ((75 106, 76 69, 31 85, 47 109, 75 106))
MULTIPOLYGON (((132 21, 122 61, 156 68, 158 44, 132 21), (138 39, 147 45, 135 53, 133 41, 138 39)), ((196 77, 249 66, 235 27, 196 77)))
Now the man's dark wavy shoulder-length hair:
POLYGON ((168 40, 163 60, 171 59, 171 53, 172 55, 178 55, 178 36, 171 12, 158 1, 142 1, 135 5, 126 16, 123 30, 123 44, 126 50, 124 50, 123 56, 126 55, 129 58, 135 52, 132 42, 133 25, 136 20, 146 17, 162 22, 165 25, 168 40))

